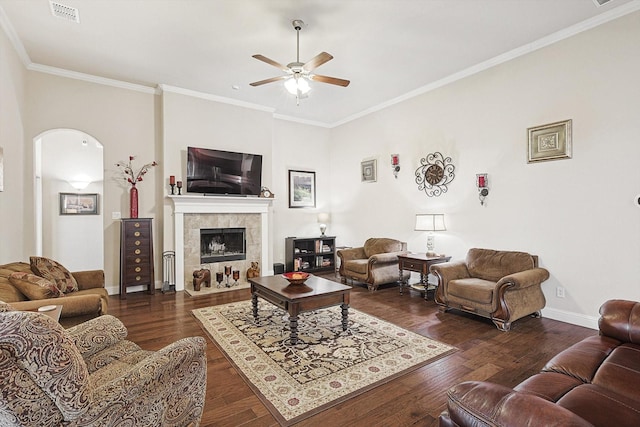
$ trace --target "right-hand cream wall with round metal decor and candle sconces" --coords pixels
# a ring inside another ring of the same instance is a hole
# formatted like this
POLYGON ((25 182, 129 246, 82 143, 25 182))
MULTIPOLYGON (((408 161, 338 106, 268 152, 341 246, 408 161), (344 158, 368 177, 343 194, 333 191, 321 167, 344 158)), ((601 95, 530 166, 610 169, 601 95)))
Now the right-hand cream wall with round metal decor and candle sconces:
POLYGON ((390 236, 423 251, 414 214, 443 212, 436 250, 470 247, 539 255, 551 278, 545 315, 595 326, 609 298, 640 299, 640 13, 333 130, 334 226, 341 243, 390 236), (573 158, 527 164, 527 128, 573 120, 573 158), (417 190, 421 157, 451 156, 449 191, 417 190), (394 179, 390 154, 400 153, 394 179), (360 161, 379 159, 363 184, 360 161), (489 174, 480 205, 475 174, 489 174), (366 207, 366 208, 365 208, 366 207), (364 208, 364 209, 363 209, 364 208), (557 287, 566 298, 555 296, 557 287))

